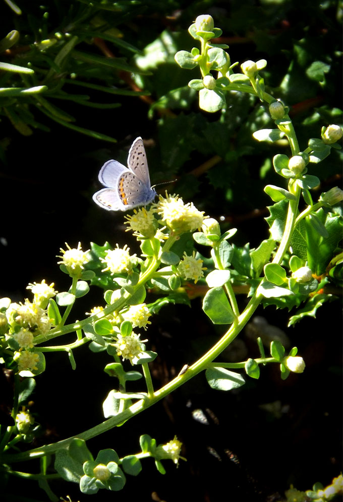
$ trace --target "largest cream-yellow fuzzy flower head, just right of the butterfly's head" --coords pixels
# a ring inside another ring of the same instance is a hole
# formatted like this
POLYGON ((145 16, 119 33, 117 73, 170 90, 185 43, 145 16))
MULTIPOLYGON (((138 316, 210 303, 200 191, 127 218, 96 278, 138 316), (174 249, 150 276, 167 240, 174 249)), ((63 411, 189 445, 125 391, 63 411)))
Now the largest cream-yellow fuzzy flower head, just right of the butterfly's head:
POLYGON ((163 223, 177 234, 199 229, 204 220, 204 212, 198 211, 193 203, 184 204, 179 195, 159 196, 157 212, 163 223))

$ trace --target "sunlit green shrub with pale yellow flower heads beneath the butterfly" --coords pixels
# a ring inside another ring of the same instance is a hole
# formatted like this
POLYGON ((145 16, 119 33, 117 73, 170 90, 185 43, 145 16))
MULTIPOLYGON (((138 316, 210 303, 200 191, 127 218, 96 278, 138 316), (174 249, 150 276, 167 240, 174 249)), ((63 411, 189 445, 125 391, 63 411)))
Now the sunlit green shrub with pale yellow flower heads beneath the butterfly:
MULTIPOLYGON (((175 59, 185 69, 199 67, 202 78, 192 79, 189 86, 199 91, 200 108, 216 112, 225 106, 227 92, 249 93, 268 105, 275 124, 273 129, 255 131, 254 138, 276 145, 281 139, 288 141, 290 155, 273 157, 275 173, 287 183, 287 188, 265 187, 266 194, 275 203, 269 208, 267 218, 270 237, 256 249, 234 246, 230 240, 236 229, 221 233, 219 222, 214 218, 205 216, 193 203, 185 203, 179 195, 165 193, 149 208, 135 209, 133 215, 125 217, 126 230, 133 233, 140 247, 137 253, 131 254, 127 244, 111 248, 108 243, 103 246, 92 243, 87 250, 82 249, 80 242, 77 248, 66 244, 67 250, 61 249, 58 263, 61 271, 70 277, 68 291, 58 292, 53 283, 48 286, 43 280, 27 287, 33 302, 25 299, 24 303, 17 304, 10 298, 2 298, 1 362, 15 373, 16 384, 13 424, 1 431, 1 461, 8 474, 23 475, 9 467, 13 463, 54 455, 56 473, 51 476, 78 483, 82 493, 121 490, 127 476, 139 474, 142 459, 153 458, 162 474, 165 472, 162 461, 172 460, 178 465, 180 459, 185 460, 181 456, 181 442, 175 436, 166 444, 156 445, 155 439, 143 434, 138 453, 120 458, 114 449, 106 448, 100 450, 94 460, 86 440, 123 426, 200 372, 205 373, 212 389, 229 391, 242 387, 250 378, 257 380, 267 364, 279 367, 282 380, 287 379, 290 372, 306 370, 304 359, 297 355, 297 347, 286 350, 279 340, 271 341, 270 354, 266 355, 258 338, 258 358, 229 363, 221 361, 220 356, 259 305, 289 309, 301 305, 301 310, 290 319, 292 325, 305 316, 313 316, 324 302, 332 299, 324 287, 338 275, 342 261, 338 248, 342 218, 337 205, 343 199, 343 192, 335 187, 322 193, 314 203, 310 190, 317 187, 320 180, 308 173, 313 164, 330 154, 331 148, 339 148, 336 142, 342 136, 341 128, 332 124, 323 127, 320 137, 310 138, 306 148, 300 150, 288 107, 265 91, 259 72, 267 62, 246 61, 241 65, 242 73, 234 72, 236 64, 231 64, 224 50, 227 46, 211 41, 220 36, 221 30, 214 27, 209 15, 199 16, 189 32, 200 42, 201 50, 194 47, 191 52, 180 51, 175 59), (306 209, 300 209, 300 200, 306 209), (180 250, 180 242, 184 247, 186 242, 194 242, 200 250, 188 254, 184 248, 180 250), (205 260, 206 266, 203 266, 205 260), (201 282, 206 287, 202 309, 213 324, 225 326, 224 333, 197 361, 186 364, 179 375, 156 390, 149 363, 157 354, 149 350, 149 338, 141 340, 142 330, 148 337, 148 325, 154 322, 154 314, 168 302, 185 299, 183 286, 189 281, 201 282), (104 290, 103 305, 93 307, 88 317, 67 324, 75 302, 94 285, 104 290), (240 309, 235 288, 243 286, 249 299, 240 309), (151 289, 157 290, 161 297, 149 304, 151 289), (68 333, 76 335, 72 343, 49 345, 51 340, 68 333), (34 377, 44 372, 44 353, 67 352, 75 369, 73 353, 85 344, 89 344, 94 357, 97 352, 106 352, 110 362, 104 371, 119 382, 118 390, 110 390, 104 401, 106 420, 77 436, 20 451, 19 443, 35 437, 37 432, 25 406, 34 388, 34 377), (135 370, 126 371, 126 362, 130 370, 132 367, 135 370), (27 382, 25 391, 19 390, 21 378, 27 382), (144 381, 142 388, 132 392, 130 381, 138 379, 144 381)), ((35 478, 49 479, 45 468, 35 478)), ((323 497, 341 490, 337 480, 332 486, 314 490, 307 496, 328 499, 323 497)), ((42 487, 49 493, 47 484, 42 487)))

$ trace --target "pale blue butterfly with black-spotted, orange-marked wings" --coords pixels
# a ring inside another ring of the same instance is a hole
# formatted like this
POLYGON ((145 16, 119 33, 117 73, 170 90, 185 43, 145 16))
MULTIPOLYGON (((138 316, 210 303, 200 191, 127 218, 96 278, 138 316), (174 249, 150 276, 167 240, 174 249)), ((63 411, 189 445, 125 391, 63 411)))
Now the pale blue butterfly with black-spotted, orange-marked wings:
POLYGON ((94 193, 93 200, 107 211, 129 211, 152 202, 156 192, 151 188, 142 138, 132 143, 128 167, 109 160, 100 169, 99 181, 105 188, 94 193))

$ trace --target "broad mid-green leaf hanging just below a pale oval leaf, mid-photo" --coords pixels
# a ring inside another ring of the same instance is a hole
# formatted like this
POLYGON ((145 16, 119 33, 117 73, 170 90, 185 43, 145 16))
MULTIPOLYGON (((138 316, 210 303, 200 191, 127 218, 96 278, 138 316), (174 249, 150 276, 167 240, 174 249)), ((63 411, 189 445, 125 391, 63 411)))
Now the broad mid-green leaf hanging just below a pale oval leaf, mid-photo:
POLYGON ((231 324, 235 320, 235 314, 222 287, 214 287, 207 291, 202 309, 213 324, 231 324))

